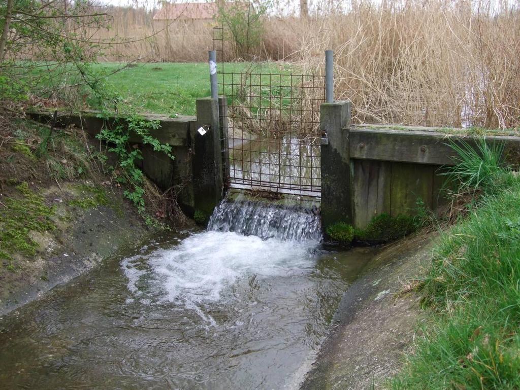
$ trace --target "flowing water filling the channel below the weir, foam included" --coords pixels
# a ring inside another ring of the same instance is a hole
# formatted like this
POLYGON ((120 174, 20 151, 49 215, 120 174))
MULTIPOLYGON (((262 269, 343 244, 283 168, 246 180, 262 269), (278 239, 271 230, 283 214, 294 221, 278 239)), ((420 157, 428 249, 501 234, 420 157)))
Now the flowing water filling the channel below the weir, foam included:
POLYGON ((158 239, 1 319, 0 388, 297 388, 373 252, 324 249, 303 211, 287 211, 296 228, 256 210, 249 231, 254 216, 219 212, 215 231, 158 239))

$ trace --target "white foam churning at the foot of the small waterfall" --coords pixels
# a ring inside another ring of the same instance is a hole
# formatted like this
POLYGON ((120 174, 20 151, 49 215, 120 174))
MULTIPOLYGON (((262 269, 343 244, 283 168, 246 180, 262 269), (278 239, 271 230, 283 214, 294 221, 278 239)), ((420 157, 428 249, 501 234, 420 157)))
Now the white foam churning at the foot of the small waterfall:
POLYGON ((203 232, 171 249, 137 255, 122 262, 128 289, 141 303, 173 302, 196 311, 233 297, 229 288, 243 277, 290 276, 315 264, 317 241, 282 241, 233 232, 203 232))

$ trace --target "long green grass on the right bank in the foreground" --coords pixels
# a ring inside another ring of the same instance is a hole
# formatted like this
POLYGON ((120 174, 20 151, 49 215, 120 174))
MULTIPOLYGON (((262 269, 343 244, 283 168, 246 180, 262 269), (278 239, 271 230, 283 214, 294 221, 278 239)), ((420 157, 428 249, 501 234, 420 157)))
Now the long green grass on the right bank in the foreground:
POLYGON ((456 168, 482 195, 436 246, 420 287, 434 319, 389 388, 520 388, 520 178, 498 161, 474 154, 456 168))

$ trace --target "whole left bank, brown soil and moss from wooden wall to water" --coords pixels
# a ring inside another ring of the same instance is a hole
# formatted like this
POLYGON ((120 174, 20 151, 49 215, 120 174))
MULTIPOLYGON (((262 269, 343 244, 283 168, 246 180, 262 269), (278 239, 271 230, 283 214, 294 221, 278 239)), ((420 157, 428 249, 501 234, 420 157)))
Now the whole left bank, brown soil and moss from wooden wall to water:
POLYGON ((1 116, 0 141, 0 316, 157 232, 79 129, 1 116))

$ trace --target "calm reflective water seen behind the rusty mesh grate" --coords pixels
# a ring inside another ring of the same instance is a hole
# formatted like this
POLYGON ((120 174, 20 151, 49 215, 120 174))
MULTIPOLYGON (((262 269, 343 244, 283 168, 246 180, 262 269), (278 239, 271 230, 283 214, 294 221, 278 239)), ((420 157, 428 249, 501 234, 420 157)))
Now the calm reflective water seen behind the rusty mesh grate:
POLYGON ((242 143, 230 139, 230 181, 272 191, 321 190, 320 145, 316 137, 285 136, 242 143))

